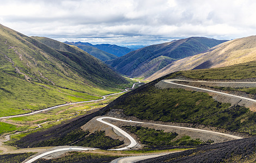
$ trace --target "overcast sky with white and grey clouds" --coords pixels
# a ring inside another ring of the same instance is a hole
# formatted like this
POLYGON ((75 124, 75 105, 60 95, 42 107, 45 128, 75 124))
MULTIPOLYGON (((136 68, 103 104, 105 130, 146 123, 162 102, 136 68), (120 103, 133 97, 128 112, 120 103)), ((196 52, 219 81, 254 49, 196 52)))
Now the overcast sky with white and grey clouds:
POLYGON ((255 0, 0 0, 0 23, 59 41, 151 45, 256 35, 255 0))

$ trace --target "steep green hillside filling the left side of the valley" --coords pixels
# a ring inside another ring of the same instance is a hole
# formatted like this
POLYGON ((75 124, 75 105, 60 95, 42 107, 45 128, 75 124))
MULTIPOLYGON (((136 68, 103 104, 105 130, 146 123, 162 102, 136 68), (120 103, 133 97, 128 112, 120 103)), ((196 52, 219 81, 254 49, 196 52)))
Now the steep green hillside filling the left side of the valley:
POLYGON ((46 46, 0 25, 0 116, 99 99, 129 84, 79 48, 46 46))

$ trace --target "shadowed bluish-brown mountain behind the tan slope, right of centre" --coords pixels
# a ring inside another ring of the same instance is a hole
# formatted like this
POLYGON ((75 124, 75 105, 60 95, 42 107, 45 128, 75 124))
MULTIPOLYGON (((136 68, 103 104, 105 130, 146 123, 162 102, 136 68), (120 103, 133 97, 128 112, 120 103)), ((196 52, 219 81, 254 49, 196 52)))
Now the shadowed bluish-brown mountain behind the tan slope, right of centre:
POLYGON ((225 41, 190 37, 137 49, 106 63, 127 76, 148 77, 175 60, 202 53, 225 41))

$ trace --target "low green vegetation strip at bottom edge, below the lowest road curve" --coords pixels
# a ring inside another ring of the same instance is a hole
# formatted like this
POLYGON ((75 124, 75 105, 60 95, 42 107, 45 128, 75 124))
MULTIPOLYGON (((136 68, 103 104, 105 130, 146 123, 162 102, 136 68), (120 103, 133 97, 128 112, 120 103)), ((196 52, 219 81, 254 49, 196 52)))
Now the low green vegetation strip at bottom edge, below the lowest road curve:
POLYGON ((114 159, 120 158, 117 155, 103 155, 103 154, 93 154, 93 153, 83 153, 83 152, 69 152, 63 158, 59 159, 39 159, 34 161, 35 163, 54 163, 54 162, 76 162, 76 163, 90 163, 90 162, 110 162, 114 159))

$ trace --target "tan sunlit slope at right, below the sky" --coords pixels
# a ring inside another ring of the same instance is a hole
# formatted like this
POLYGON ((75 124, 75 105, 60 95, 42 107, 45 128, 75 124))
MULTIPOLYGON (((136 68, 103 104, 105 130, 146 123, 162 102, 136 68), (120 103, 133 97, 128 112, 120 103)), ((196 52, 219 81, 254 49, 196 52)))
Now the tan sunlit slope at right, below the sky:
POLYGON ((175 71, 224 67, 249 61, 256 61, 256 36, 224 42, 206 53, 177 60, 147 79, 154 80, 175 71))

